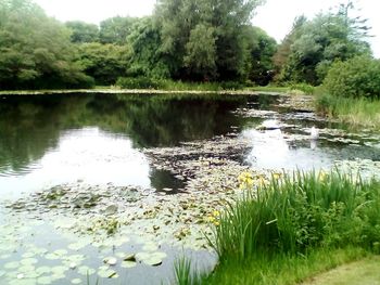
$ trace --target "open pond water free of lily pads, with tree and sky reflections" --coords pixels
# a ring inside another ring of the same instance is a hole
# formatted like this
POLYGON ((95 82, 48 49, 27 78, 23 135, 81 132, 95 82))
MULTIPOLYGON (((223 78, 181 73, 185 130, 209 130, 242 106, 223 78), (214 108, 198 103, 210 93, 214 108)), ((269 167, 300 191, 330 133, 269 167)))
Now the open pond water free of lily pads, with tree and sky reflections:
MULTIPOLYGON (((89 184, 164 187, 169 174, 152 169, 141 150, 239 132, 252 142, 243 163, 269 169, 329 167, 337 159, 380 160, 373 139, 307 140, 312 126, 338 125, 305 119, 281 109, 277 96, 35 95, 0 101, 0 192, 4 197, 84 181, 89 184), (266 117, 233 114, 238 108, 276 111, 292 128, 258 131, 266 117), (287 116, 282 116, 286 114, 287 116), (287 137, 306 135, 289 141, 287 137), (369 142, 369 144, 368 144, 369 142), (372 144, 370 144, 372 143, 372 144)), ((292 113, 293 112, 293 113, 292 113)), ((376 142, 376 141, 375 141, 376 142)), ((377 142, 378 143, 378 142, 377 142)))

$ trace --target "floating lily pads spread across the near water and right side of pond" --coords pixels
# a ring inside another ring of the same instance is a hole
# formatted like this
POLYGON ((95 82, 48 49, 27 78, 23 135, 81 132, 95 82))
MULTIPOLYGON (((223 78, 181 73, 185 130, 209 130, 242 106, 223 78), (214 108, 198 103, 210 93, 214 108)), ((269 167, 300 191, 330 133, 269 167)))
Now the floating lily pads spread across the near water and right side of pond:
MULTIPOLYGON (((279 107, 294 104, 292 100, 279 102, 279 107)), ((308 104, 305 99, 299 108, 307 111, 308 104)), ((249 108, 236 113, 283 120, 287 116, 249 108)), ((304 114, 300 118, 316 119, 314 114, 304 114)), ((321 129, 320 134, 324 140, 349 144, 380 141, 360 140, 334 129, 321 129)), ((286 139, 307 138, 307 129, 301 128, 286 139)), ((254 189, 273 176, 268 170, 253 170, 242 164, 251 144, 249 138, 232 132, 176 147, 143 150, 153 168, 166 170, 183 182, 176 195, 166 195, 172 189, 156 193, 154 189, 77 182, 5 202, 7 218, 0 225, 0 281, 11 285, 87 284, 88 278, 93 283, 99 278, 114 280, 124 271, 141 267, 162 269, 173 261, 174 252, 183 249, 213 255, 210 242, 214 226, 219 225, 225 205, 242 193, 239 185, 245 183, 254 189), (43 234, 52 241, 45 241, 43 234)), ((337 165, 380 173, 379 164, 371 160, 337 165)))

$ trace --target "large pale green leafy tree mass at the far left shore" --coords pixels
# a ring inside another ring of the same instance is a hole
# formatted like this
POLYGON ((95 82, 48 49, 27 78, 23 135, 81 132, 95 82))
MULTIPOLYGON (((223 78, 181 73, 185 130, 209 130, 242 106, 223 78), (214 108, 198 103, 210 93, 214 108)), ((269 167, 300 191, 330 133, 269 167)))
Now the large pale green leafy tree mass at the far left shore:
POLYGON ((90 86, 68 30, 28 0, 0 1, 0 88, 90 86))

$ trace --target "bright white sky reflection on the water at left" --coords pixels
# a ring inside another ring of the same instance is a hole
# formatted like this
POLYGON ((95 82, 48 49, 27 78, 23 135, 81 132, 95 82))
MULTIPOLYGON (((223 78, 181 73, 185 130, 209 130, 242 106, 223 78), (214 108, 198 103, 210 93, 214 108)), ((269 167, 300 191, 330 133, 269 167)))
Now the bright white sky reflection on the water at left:
POLYGON ((56 147, 24 167, 23 172, 11 173, 9 169, 0 178, 1 194, 5 196, 76 181, 150 187, 149 163, 132 147, 132 141, 99 128, 63 132, 56 147))

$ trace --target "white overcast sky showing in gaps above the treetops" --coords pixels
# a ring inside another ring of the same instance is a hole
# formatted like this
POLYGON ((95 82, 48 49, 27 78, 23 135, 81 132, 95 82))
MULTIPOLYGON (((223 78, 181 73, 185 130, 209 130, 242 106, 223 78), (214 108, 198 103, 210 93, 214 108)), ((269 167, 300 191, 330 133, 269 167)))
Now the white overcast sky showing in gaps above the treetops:
MULTIPOLYGON (((267 0, 256 10, 253 24, 262 27, 278 42, 290 31, 295 16, 312 18, 320 11, 328 11, 344 0, 267 0)), ((144 16, 152 14, 155 0, 35 0, 48 15, 60 21, 80 20, 99 24, 107 17, 144 16)), ((380 1, 356 0, 359 15, 368 18, 372 27, 369 39, 373 53, 380 57, 380 1)))

